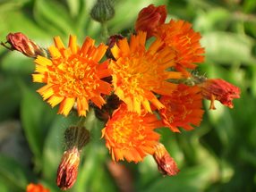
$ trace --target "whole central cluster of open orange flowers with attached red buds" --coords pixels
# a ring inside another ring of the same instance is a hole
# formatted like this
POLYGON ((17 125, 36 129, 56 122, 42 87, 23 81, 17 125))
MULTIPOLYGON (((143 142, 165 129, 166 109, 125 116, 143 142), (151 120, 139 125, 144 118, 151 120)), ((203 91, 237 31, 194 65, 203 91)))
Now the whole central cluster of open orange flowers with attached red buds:
POLYGON ((215 100, 232 108, 240 90, 192 72, 204 62, 201 34, 187 21, 166 21, 166 14, 165 5, 150 4, 139 13, 135 33, 110 37, 108 46, 89 37, 78 46, 71 36, 65 47, 56 37, 49 55, 37 55, 32 76, 45 84, 38 93, 52 107, 59 104, 64 116, 73 109, 86 116, 90 107, 107 111, 102 138, 114 161, 138 163, 150 154, 159 171, 175 175, 177 165, 156 129, 191 130, 201 124, 203 99, 210 109, 215 100))

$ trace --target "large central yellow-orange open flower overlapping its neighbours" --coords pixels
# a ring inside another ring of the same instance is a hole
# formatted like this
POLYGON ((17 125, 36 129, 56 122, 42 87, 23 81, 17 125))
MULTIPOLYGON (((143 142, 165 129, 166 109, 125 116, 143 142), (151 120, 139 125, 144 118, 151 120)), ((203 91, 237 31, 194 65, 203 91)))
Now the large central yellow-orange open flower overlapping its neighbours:
POLYGON ((115 95, 127 104, 130 112, 141 113, 142 104, 151 113, 149 102, 158 109, 163 108, 154 93, 170 95, 176 85, 166 80, 181 78, 180 72, 166 71, 175 65, 169 47, 158 51, 163 45, 158 39, 146 50, 145 41, 146 33, 139 32, 132 36, 130 45, 124 38, 111 49, 116 60, 109 64, 115 95))

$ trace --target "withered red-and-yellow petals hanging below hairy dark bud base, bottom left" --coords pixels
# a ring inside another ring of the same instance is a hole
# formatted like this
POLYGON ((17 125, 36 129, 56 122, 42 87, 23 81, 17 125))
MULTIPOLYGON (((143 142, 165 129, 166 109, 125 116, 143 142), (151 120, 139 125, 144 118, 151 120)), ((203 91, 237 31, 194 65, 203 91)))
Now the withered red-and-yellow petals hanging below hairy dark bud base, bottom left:
POLYGON ((78 173, 80 163, 80 152, 73 147, 64 152, 57 171, 56 183, 59 188, 66 190, 73 187, 78 173))

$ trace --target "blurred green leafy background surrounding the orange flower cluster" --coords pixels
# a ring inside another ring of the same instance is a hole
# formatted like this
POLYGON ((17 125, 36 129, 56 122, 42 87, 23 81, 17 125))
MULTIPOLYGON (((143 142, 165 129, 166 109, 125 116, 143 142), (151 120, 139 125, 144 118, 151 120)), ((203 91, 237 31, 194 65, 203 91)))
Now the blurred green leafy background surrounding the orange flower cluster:
MULTIPOLYGON (((161 141, 181 169, 175 177, 162 177, 151 157, 143 163, 122 163, 123 177, 110 169, 103 124, 88 116, 91 141, 82 152, 77 182, 72 192, 256 191, 256 1, 255 0, 115 0, 111 35, 130 33, 141 8, 166 4, 168 18, 190 21, 202 34, 206 61, 201 74, 222 78, 242 90, 235 108, 216 102, 199 128, 175 134, 162 129, 161 141), (93 129, 94 128, 94 129, 93 129), (108 166, 107 166, 108 164, 108 166), (127 176, 127 177, 126 177, 127 176), (128 177, 129 176, 129 177, 128 177), (130 177, 131 176, 131 177, 130 177), (126 187, 125 187, 126 185, 126 187), (127 187, 129 186, 129 187, 127 187), (127 189, 128 188, 128 189, 127 189)), ((94 0, 0 0, 0 41, 21 31, 40 46, 50 46, 70 34, 80 42, 99 41, 100 25, 90 19, 94 0)), ((51 191, 64 151, 64 129, 77 118, 56 115, 31 83, 33 60, 0 47, 0 191, 25 191, 30 182, 51 191)))

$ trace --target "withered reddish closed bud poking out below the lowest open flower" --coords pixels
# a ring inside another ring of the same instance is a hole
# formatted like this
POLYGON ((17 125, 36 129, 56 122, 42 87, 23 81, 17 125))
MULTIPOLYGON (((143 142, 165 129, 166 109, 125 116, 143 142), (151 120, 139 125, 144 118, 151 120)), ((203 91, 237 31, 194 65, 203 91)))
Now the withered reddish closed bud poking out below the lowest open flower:
POLYGON ((158 163, 158 171, 163 175, 174 176, 179 172, 175 160, 170 156, 163 144, 158 143, 153 157, 158 163))

